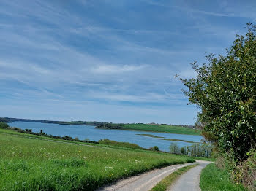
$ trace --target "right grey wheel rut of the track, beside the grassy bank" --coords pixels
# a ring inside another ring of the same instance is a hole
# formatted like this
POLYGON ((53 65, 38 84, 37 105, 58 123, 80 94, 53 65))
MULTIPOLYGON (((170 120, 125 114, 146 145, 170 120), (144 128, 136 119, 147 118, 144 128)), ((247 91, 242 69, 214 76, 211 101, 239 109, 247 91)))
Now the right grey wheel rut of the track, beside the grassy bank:
POLYGON ((183 174, 171 187, 169 187, 168 191, 200 191, 199 182, 201 171, 211 162, 197 160, 197 163, 199 165, 183 174))

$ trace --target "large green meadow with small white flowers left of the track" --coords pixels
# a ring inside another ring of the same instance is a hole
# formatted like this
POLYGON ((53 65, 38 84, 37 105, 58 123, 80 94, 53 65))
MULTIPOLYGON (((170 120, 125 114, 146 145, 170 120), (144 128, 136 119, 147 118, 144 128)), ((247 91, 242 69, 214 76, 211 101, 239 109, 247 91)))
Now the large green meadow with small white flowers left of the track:
POLYGON ((94 190, 189 157, 0 130, 0 190, 94 190), (37 139, 35 139, 37 138, 37 139))

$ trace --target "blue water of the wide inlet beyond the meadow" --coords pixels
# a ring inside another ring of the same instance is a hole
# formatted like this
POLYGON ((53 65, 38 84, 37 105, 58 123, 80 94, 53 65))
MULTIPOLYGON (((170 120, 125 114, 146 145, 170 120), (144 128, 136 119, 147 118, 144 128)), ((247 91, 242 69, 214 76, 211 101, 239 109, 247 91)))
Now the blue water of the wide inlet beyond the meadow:
MULTIPOLYGON (((162 139, 181 139, 186 141, 200 142, 202 136, 179 135, 170 133, 152 133, 135 130, 107 130, 97 129, 88 125, 59 125, 41 122, 10 122, 11 127, 21 129, 32 129, 33 132, 39 133, 42 129, 45 133, 53 136, 71 136, 78 137, 80 140, 89 139, 90 141, 99 141, 99 139, 110 139, 114 141, 122 141, 138 144, 140 147, 149 148, 153 146, 159 147, 162 151, 169 151, 172 141, 162 139), (140 136, 137 134, 151 134, 154 136, 162 136, 164 138, 153 138, 148 136, 140 136)), ((174 141, 180 147, 191 145, 184 141, 174 141)))

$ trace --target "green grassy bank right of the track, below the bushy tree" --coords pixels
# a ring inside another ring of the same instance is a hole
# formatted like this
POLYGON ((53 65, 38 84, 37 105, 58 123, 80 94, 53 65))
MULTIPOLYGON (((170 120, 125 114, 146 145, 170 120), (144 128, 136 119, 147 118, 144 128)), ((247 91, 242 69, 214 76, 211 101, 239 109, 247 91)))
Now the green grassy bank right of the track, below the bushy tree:
POLYGON ((211 163, 203 169, 200 177, 200 187, 202 191, 245 191, 241 184, 230 181, 227 171, 218 169, 211 163))

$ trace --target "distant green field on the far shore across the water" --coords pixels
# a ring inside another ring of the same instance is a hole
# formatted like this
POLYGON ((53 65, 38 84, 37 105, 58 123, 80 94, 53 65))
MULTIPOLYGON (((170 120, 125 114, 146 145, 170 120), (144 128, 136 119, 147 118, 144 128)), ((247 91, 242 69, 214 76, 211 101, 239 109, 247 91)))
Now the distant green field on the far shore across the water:
POLYGON ((173 125, 150 125, 150 124, 108 124, 99 125, 98 128, 119 129, 119 130, 141 130, 159 133, 174 133, 186 135, 200 135, 200 130, 191 128, 173 126, 173 125))

